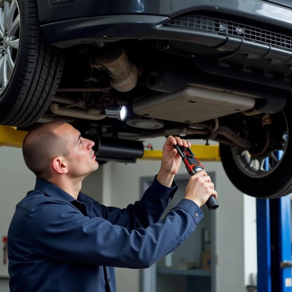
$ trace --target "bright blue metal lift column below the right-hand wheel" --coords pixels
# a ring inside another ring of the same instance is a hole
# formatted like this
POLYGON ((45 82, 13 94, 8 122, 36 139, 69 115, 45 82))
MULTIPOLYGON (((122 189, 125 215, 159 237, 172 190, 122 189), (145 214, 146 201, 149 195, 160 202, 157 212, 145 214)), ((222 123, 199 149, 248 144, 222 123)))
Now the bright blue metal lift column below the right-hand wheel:
MULTIPOLYGON (((270 162, 267 158, 266 169, 270 162)), ((290 195, 256 201, 258 292, 292 291, 290 204, 290 195)))

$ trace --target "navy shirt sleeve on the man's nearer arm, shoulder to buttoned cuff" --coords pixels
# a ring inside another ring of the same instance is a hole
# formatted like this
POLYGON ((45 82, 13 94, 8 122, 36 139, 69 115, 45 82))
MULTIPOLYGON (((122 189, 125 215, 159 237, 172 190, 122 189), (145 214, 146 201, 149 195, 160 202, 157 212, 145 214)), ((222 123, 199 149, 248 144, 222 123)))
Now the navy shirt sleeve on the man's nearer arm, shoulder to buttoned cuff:
POLYGON ((41 199, 27 217, 36 255, 97 266, 147 268, 180 246, 203 218, 201 209, 183 199, 166 217, 129 232, 74 206, 41 199))

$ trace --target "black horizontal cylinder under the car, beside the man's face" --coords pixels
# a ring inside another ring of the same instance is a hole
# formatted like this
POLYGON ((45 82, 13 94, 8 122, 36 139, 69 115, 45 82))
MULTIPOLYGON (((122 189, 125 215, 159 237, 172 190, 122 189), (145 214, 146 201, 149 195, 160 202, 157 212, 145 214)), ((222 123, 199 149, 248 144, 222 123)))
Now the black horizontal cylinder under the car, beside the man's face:
POLYGON ((95 142, 94 155, 97 160, 136 162, 137 158, 142 158, 144 155, 144 145, 141 141, 107 137, 97 137, 93 141, 95 142))

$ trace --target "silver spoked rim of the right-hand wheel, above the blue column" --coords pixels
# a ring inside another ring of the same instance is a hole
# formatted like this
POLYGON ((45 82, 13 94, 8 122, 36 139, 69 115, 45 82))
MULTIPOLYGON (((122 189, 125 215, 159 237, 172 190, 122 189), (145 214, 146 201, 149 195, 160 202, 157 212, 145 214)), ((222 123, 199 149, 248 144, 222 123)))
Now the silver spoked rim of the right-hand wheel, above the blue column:
POLYGON ((286 131, 282 136, 281 149, 273 150, 264 157, 257 157, 252 156, 247 150, 238 151, 237 148, 232 147, 232 157, 241 172, 251 178, 263 178, 270 175, 281 164, 288 145, 288 123, 285 115, 284 119, 286 131))

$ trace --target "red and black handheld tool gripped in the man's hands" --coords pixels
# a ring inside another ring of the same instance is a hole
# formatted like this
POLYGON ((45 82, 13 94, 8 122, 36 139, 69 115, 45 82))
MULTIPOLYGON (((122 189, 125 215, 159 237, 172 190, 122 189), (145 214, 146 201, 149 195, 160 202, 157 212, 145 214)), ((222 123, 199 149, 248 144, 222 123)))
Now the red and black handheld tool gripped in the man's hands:
MULTIPOLYGON (((190 147, 185 148, 183 146, 173 145, 173 148, 175 148, 178 151, 178 154, 182 157, 189 175, 192 176, 198 171, 204 170, 204 166, 195 157, 190 147)), ((219 204, 213 195, 208 199, 206 205, 209 210, 215 210, 219 207, 219 204)))

